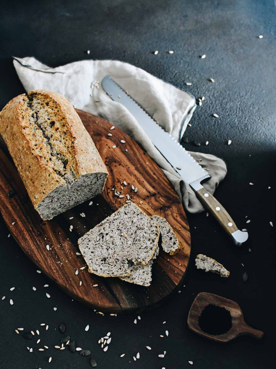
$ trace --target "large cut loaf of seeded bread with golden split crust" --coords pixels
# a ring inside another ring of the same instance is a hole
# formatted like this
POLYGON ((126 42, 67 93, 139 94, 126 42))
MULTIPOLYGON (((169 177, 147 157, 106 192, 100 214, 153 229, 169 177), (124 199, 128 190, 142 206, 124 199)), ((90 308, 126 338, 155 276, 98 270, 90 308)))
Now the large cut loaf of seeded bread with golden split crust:
POLYGON ((107 168, 63 96, 44 90, 17 96, 0 112, 0 134, 44 220, 102 192, 107 168))

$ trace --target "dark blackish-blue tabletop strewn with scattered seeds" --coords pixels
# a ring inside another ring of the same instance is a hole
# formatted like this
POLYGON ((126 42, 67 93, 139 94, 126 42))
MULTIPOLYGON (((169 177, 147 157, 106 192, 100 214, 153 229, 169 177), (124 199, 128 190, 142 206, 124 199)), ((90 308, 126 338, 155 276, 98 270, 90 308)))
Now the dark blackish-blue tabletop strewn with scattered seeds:
POLYGON ((276 282, 275 228, 270 225, 270 221, 276 224, 274 1, 2 0, 0 7, 0 108, 24 92, 12 55, 33 55, 52 67, 89 58, 119 59, 197 98, 205 96, 186 131, 190 141, 202 145, 188 143, 185 148, 225 159, 228 174, 215 195, 250 236, 237 248, 211 217, 205 213, 188 215, 192 250, 185 286, 171 301, 143 313, 134 324, 137 316, 101 316, 72 301, 36 272, 13 238, 8 238, 1 219, 0 299, 6 298, 0 300, 0 368, 90 368, 88 357, 53 348, 61 339, 57 329, 61 322, 78 346, 91 350, 99 369, 182 369, 190 367, 188 361, 200 369, 272 368, 276 282), (91 50, 90 55, 86 50, 91 50), (158 55, 153 55, 153 50, 159 50, 158 55), (199 58, 202 54, 206 54, 205 59, 199 58), (186 86, 187 81, 193 84, 186 86), (213 113, 220 117, 215 119, 213 113), (229 139, 231 145, 227 145, 229 139), (209 145, 205 146, 207 140, 209 145), (251 222, 246 224, 247 219, 251 222), (230 278, 196 270, 194 258, 199 252, 223 263, 231 271, 230 278), (245 271, 247 282, 242 278, 245 271), (11 287, 15 290, 10 291, 11 287), (256 341, 243 336, 218 344, 189 331, 187 313, 200 291, 238 302, 246 322, 263 330, 264 338, 256 341), (41 323, 49 329, 40 327, 41 323), (87 324, 90 329, 85 332, 87 324), (41 342, 36 344, 38 336, 27 341, 22 333, 15 334, 17 327, 39 329, 41 342), (160 337, 166 329, 169 336, 160 337), (97 341, 108 331, 112 341, 103 352, 97 341), (39 352, 43 345, 49 349, 39 352), (27 346, 33 352, 28 352, 27 346), (159 358, 164 350, 166 356, 159 358), (137 352, 140 359, 134 362, 132 356, 137 352))

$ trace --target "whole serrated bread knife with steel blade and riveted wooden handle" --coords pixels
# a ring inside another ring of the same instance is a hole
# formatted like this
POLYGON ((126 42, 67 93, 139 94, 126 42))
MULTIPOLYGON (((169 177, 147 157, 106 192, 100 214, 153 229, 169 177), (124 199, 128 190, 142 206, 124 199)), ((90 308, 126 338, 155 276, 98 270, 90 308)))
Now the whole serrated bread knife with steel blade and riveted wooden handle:
POLYGON ((114 101, 120 102, 136 118, 153 145, 164 156, 174 170, 195 191, 199 201, 209 210, 224 228, 234 243, 240 246, 248 238, 248 233, 239 230, 224 207, 201 184, 211 178, 210 174, 200 167, 199 163, 180 145, 175 138, 163 130, 161 126, 110 76, 102 80, 102 87, 114 101))

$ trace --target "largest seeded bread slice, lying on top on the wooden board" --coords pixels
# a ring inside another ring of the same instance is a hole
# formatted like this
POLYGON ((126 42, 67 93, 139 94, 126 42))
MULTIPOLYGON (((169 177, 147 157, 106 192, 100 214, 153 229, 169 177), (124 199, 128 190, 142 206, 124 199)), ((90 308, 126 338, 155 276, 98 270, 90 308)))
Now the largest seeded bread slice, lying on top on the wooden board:
POLYGON ((78 240, 89 271, 103 277, 130 275, 130 264, 147 265, 159 227, 135 203, 123 205, 78 240))

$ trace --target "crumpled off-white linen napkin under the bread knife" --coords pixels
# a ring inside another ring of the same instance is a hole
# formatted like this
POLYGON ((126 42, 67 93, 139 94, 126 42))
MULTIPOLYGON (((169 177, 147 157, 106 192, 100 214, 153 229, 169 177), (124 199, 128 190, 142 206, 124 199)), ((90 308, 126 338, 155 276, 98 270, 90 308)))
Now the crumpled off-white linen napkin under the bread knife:
MULTIPOLYGON (((137 120, 122 104, 107 96, 101 87, 101 81, 109 74, 179 141, 196 108, 193 96, 141 68, 118 60, 83 60, 50 68, 33 57, 14 57, 14 66, 27 92, 44 89, 60 93, 71 101, 75 108, 104 117, 129 134, 162 168, 184 208, 190 213, 204 210, 194 191, 154 147, 137 120)), ((227 173, 224 161, 211 154, 190 154, 195 160, 200 160, 204 169, 208 169, 211 178, 204 186, 213 194, 227 173)))

